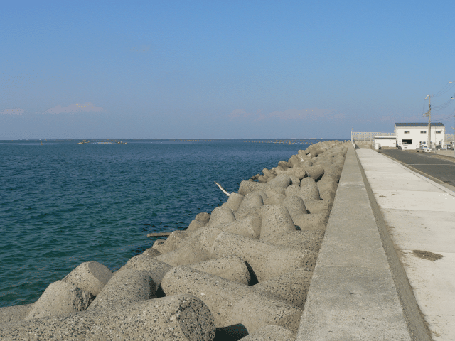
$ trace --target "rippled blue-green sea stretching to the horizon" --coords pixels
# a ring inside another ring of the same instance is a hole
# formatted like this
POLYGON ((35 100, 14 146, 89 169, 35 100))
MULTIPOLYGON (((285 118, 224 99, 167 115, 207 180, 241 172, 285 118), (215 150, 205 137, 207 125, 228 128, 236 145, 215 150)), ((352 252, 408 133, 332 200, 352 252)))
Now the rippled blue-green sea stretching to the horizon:
POLYGON ((89 141, 0 141, 0 306, 33 303, 84 261, 116 271, 147 233, 225 202, 214 181, 237 191, 321 140, 89 141))

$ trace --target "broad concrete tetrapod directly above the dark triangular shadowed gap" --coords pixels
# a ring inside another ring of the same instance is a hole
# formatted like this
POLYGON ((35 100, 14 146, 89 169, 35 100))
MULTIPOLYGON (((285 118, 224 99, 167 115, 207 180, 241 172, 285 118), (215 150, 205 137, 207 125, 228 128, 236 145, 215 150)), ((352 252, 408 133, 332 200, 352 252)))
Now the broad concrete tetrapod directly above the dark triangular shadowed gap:
POLYGON ((239 256, 251 266, 259 283, 294 269, 313 268, 317 256, 311 250, 259 242, 228 232, 218 234, 210 249, 210 256, 218 258, 231 254, 239 256))

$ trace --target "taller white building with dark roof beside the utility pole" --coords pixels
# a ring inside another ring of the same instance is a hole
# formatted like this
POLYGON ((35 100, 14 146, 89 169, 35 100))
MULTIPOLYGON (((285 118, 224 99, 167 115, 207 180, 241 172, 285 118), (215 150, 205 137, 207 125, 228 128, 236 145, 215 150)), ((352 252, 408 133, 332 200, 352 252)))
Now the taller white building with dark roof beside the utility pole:
MULTIPOLYGON (((430 130, 431 148, 444 144, 446 127, 442 123, 432 123, 430 130)), ((417 149, 426 145, 428 140, 427 123, 395 123, 397 146, 403 149, 417 149)))

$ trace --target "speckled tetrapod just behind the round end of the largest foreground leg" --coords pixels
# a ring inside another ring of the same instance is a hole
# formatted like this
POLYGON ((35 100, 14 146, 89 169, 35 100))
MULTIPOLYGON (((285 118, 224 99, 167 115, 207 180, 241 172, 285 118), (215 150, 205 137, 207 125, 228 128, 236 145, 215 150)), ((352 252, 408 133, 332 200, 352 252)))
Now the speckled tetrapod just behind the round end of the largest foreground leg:
POLYGON ((188 293, 200 298, 215 318, 217 327, 241 324, 248 332, 264 325, 299 327, 301 310, 272 296, 258 295, 249 286, 227 281, 186 266, 177 266, 161 282, 166 295, 188 293), (294 322, 295 320, 295 322, 294 322))

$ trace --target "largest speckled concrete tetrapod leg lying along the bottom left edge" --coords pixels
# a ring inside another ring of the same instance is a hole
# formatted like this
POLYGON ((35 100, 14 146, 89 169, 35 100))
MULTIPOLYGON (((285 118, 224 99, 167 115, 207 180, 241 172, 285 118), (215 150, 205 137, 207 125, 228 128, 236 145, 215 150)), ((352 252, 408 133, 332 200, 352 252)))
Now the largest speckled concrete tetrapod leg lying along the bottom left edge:
POLYGON ((0 325, 0 339, 5 341, 212 341, 214 337, 213 315, 203 301, 190 295, 0 325))

